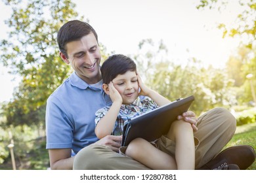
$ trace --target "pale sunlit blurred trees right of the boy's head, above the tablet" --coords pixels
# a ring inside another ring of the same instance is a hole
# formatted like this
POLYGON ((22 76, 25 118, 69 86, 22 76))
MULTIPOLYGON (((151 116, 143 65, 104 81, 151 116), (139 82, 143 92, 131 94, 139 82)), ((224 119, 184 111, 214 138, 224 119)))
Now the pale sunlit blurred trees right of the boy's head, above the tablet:
POLYGON ((230 80, 223 69, 205 69, 196 58, 175 63, 161 45, 161 41, 155 45, 151 39, 143 40, 139 44, 141 52, 135 56, 139 73, 150 88, 171 101, 194 95, 196 100, 190 109, 198 115, 213 107, 230 108, 237 102, 235 93, 230 90, 234 80, 230 80))

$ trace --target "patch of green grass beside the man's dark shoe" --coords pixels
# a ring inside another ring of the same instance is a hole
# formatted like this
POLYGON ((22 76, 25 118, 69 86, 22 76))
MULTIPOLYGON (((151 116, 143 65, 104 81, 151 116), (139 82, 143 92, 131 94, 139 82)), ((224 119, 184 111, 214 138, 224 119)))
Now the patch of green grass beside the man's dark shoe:
MULTIPOLYGON (((224 148, 237 145, 250 145, 256 149, 256 123, 236 127, 236 133, 224 148)), ((248 168, 256 170, 256 161, 248 168)))

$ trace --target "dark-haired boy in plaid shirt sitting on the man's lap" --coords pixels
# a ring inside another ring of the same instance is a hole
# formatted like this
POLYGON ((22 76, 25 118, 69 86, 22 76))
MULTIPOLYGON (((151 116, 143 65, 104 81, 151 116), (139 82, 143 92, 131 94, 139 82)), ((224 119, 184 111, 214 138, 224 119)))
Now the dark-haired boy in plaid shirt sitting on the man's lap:
MULTIPOLYGON (((114 55, 106 59, 102 64, 101 73, 102 88, 110 95, 112 105, 96 112, 95 133, 99 139, 106 135, 122 135, 123 125, 128 118, 170 103, 168 99, 142 83, 137 75, 136 64, 127 56, 114 55)), ((197 129, 195 125, 193 127, 197 129)), ((138 138, 131 141, 125 154, 150 169, 195 168, 194 135, 190 124, 177 120, 171 125, 167 135, 161 138, 172 146, 171 153, 161 151, 160 141, 154 144, 138 138)))

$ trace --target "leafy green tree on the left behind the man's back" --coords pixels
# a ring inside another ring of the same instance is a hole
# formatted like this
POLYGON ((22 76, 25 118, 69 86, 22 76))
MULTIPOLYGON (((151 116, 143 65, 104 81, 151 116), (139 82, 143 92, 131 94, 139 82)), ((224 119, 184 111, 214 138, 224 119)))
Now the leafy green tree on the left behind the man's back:
POLYGON ((9 38, 1 40, 1 63, 22 78, 12 101, 3 105, 7 125, 44 124, 47 97, 70 73, 58 56, 56 34, 77 18, 70 0, 4 0, 12 15, 9 38))

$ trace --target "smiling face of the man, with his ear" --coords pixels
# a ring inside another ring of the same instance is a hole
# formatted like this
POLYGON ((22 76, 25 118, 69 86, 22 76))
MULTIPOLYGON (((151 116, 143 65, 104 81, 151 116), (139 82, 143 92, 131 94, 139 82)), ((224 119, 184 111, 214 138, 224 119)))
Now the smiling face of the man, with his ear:
POLYGON ((93 33, 85 35, 79 41, 68 42, 66 52, 68 58, 62 53, 60 56, 66 63, 70 63, 77 76, 88 84, 100 81, 100 48, 93 33))

